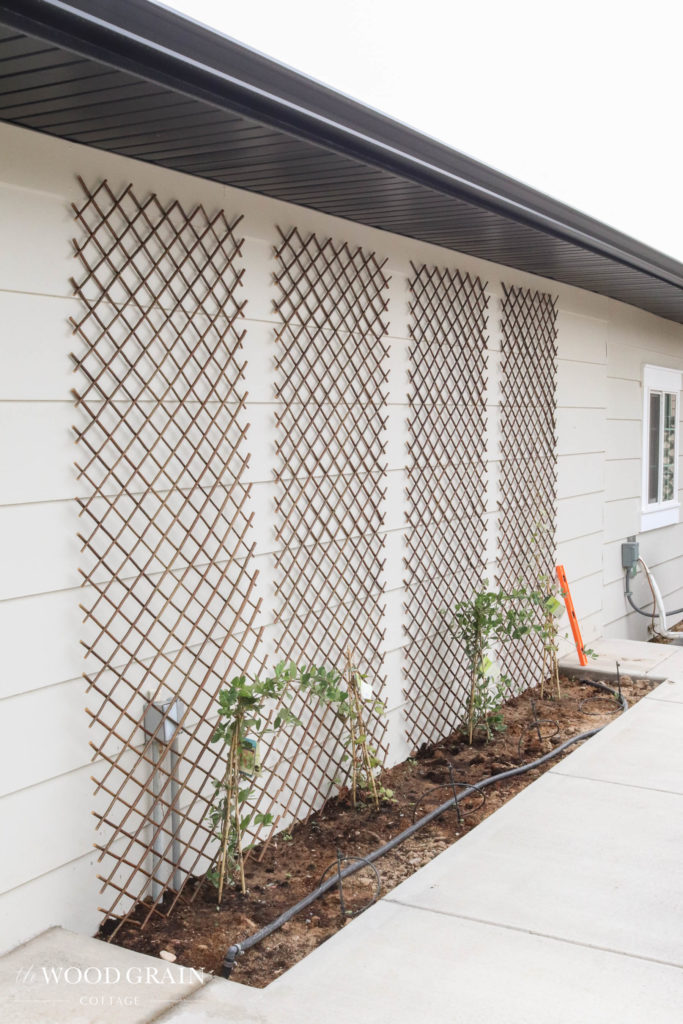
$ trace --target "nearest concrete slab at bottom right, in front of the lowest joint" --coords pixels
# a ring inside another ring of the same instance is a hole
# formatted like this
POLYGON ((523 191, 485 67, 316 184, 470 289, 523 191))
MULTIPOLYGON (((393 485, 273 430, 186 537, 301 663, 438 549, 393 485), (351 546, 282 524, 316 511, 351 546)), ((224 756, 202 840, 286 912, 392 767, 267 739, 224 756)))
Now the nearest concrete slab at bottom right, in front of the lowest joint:
POLYGON ((160 1024, 678 1024, 680 972, 524 932, 378 904, 243 1016, 219 980, 160 1024))

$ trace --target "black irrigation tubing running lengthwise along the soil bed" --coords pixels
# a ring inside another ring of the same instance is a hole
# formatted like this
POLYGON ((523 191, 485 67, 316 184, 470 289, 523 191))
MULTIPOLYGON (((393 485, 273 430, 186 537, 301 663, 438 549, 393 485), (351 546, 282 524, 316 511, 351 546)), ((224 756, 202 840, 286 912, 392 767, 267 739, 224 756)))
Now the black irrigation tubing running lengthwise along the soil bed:
MULTIPOLYGON (((629 706, 624 694, 622 693, 622 686, 618 678, 618 690, 612 690, 611 687, 605 686, 604 683, 598 683, 593 679, 580 679, 579 682, 586 683, 588 686, 594 686, 598 690, 603 690, 605 693, 608 693, 610 696, 615 697, 616 700, 618 700, 622 712, 628 710, 629 706)), ((305 910, 306 907, 310 906, 311 903, 314 903, 315 900, 321 898, 321 896, 325 896, 326 893, 329 893, 332 889, 339 888, 343 879, 348 878, 350 874, 354 874, 362 867, 372 864, 374 861, 379 860, 380 857, 384 857, 387 853, 390 853, 391 850, 394 850, 397 846, 400 846, 401 843, 404 843, 407 839, 414 836, 420 830, 420 828, 423 828, 425 825, 429 824, 430 821, 433 821, 445 811, 456 806, 458 801, 471 796, 473 793, 483 790, 485 786, 493 785, 495 782, 502 782, 504 779, 514 778, 516 775, 523 775, 525 772, 531 771, 533 768, 539 768, 547 761, 556 758, 563 751, 566 751, 568 746, 572 746, 574 743, 579 743, 584 739, 590 739, 591 736, 595 736, 602 729, 604 729, 604 725, 600 725, 596 729, 589 729, 588 732, 581 732, 577 736, 571 736, 569 739, 565 739, 564 742, 554 746, 548 754, 544 754, 543 757, 537 758, 536 761, 529 761, 528 764, 520 765, 518 768, 510 768, 508 771, 499 772, 497 775, 489 775, 488 778, 484 778, 480 782, 476 782, 473 785, 468 786, 463 790, 460 795, 446 800, 444 804, 441 804, 439 807, 434 808, 433 811, 425 814, 418 821, 416 821, 415 824, 404 828, 402 833, 398 833, 397 836, 390 839, 388 843, 384 844, 384 846, 378 847, 376 850, 373 850, 372 853, 358 858, 357 862, 349 863, 346 867, 342 868, 338 872, 335 872, 332 878, 319 885, 317 889, 314 889, 307 896, 304 896, 303 899, 299 900, 298 903, 295 903, 288 910, 285 910, 279 918, 271 921, 269 925, 261 928, 258 932, 255 932, 254 935, 250 935, 249 938, 244 940, 244 942, 236 942, 231 945, 223 958, 220 971, 221 976, 223 978, 229 978, 238 956, 247 952, 247 950, 251 949, 252 946, 262 942, 263 939, 267 939, 269 935, 272 935, 273 932, 276 932, 283 927, 283 925, 287 924, 288 921, 291 921, 292 918, 301 913, 302 910, 305 910)))

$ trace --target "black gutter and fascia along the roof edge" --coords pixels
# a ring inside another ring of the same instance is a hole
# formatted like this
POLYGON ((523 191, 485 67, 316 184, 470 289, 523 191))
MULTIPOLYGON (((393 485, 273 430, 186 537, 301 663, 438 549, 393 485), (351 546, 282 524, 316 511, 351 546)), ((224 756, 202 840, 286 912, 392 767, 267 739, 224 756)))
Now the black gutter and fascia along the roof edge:
POLYGON ((0 22, 683 289, 678 261, 168 8, 139 0, 0 0, 0 22), (193 55, 200 52, 243 77, 193 55))

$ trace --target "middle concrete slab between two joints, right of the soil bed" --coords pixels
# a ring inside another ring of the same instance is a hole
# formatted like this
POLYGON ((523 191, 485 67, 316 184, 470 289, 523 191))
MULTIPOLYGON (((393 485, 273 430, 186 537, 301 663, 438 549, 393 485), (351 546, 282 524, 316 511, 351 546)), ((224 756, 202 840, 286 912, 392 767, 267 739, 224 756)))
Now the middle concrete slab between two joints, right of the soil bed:
POLYGON ((548 772, 387 899, 683 967, 683 798, 548 772))

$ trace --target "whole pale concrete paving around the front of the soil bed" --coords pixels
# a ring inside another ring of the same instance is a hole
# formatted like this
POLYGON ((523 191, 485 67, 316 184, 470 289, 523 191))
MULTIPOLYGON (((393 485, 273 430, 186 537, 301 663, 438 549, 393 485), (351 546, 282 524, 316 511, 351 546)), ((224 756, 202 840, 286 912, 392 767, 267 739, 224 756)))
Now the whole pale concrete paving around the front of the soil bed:
POLYGON ((52 929, 0 961, 3 1024, 678 1024, 681 685, 661 684, 267 988, 52 929))

